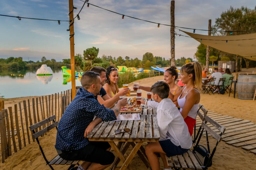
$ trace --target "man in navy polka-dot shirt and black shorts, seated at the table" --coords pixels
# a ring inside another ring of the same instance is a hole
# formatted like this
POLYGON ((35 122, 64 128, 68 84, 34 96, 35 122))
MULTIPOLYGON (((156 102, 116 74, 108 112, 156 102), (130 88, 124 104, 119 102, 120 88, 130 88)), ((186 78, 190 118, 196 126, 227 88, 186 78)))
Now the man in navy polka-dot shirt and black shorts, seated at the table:
MULTIPOLYGON (((65 160, 84 161, 83 169, 105 169, 114 161, 108 142, 90 142, 87 134, 101 121, 112 121, 119 115, 127 98, 118 101, 111 110, 100 105, 101 78, 99 73, 87 71, 81 78, 82 87, 60 119, 55 148, 65 160), (94 120, 94 116, 97 116, 94 120)), ((75 168, 77 169, 77 167, 75 168)))

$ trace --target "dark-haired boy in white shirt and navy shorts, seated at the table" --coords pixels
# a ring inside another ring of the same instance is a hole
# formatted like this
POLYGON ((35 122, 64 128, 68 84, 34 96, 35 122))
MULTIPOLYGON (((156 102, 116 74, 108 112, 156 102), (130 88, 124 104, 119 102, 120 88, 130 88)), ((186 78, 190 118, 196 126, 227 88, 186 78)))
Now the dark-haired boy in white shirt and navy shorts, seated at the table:
POLYGON ((192 146, 187 124, 176 105, 168 99, 170 88, 165 82, 157 82, 151 87, 152 98, 155 101, 141 100, 148 108, 157 108, 157 123, 159 126, 159 142, 146 145, 146 155, 152 170, 160 170, 156 153, 160 153, 165 168, 168 168, 165 154, 170 156, 182 155, 192 146))

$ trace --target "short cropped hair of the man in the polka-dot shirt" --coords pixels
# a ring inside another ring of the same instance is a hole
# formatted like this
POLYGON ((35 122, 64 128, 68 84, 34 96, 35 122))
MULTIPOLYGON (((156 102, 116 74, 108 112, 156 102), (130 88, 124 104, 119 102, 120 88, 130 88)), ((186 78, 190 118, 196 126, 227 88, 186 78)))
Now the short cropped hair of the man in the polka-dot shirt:
POLYGON ((92 84, 96 83, 97 77, 100 76, 99 73, 93 71, 86 71, 83 73, 81 78, 81 85, 83 88, 88 89, 92 84))

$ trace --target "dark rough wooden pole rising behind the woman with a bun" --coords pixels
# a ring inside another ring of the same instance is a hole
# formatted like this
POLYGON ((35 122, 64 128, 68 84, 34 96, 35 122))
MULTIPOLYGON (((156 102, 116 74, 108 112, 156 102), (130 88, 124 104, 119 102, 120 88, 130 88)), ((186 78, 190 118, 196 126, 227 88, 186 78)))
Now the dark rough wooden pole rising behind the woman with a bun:
POLYGON ((175 65, 174 1, 171 1, 171 65, 175 65))

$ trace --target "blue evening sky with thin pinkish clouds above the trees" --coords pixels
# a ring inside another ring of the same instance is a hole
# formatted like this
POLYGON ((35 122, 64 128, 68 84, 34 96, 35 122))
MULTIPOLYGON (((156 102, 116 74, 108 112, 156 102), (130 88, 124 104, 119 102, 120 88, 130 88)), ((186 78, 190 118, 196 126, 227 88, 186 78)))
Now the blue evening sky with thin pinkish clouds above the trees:
MULTIPOLYGON (((73 0, 74 16, 83 2, 73 0)), ((170 0, 89 0, 89 3, 115 12, 170 25, 170 0)), ((220 17, 230 6, 254 8, 255 0, 176 0, 175 26, 195 29, 208 29, 208 20, 220 17)), ((68 0, 1 0, 0 14, 69 20, 68 0)), ((87 48, 99 48, 103 54, 113 57, 129 56, 142 59, 146 52, 154 56, 170 58, 170 27, 136 20, 111 13, 90 5, 84 6, 74 21, 75 54, 83 54, 87 48)), ((37 61, 42 56, 47 59, 70 58, 69 23, 61 21, 42 21, 0 16, 0 58, 23 57, 23 60, 37 61)), ((183 29, 193 32, 193 30, 183 29)), ((176 29, 182 35, 185 33, 176 29)), ((198 31, 207 35, 207 31, 198 31)), ((176 36, 175 59, 193 58, 199 42, 193 38, 176 36)))

